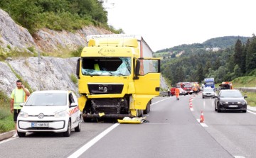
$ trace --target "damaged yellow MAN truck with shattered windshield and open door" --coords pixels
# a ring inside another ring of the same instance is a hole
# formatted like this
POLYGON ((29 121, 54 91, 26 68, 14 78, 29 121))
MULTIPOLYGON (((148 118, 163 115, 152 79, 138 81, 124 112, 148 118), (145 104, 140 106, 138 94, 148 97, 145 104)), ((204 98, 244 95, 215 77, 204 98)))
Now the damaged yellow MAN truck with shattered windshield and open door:
POLYGON ((85 122, 142 117, 159 96, 160 58, 139 35, 87 35, 76 74, 85 122))

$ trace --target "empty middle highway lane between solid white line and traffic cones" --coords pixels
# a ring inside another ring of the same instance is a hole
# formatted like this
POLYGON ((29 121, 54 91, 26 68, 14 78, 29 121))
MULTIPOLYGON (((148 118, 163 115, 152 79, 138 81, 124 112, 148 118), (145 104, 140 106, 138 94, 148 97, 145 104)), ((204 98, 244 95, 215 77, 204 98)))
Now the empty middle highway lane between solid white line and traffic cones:
POLYGON ((194 118, 188 98, 154 104, 149 123, 118 125, 80 157, 232 157, 194 118))

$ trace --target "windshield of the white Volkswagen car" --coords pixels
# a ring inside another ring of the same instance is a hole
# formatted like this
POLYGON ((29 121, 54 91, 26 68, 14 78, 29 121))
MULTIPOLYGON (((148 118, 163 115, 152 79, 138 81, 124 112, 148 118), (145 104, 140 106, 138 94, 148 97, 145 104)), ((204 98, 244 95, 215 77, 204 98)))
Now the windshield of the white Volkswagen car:
POLYGON ((65 93, 34 93, 29 96, 25 106, 65 106, 67 94, 65 93))

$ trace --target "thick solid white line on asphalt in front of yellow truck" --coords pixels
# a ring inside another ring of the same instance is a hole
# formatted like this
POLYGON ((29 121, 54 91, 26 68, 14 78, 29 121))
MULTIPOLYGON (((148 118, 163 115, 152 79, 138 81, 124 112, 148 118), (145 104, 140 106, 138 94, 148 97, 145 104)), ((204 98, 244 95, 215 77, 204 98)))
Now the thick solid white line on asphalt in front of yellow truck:
POLYGON ((79 157, 82 153, 84 153, 87 149, 92 147, 92 145, 94 145, 97 141, 99 141, 102 137, 107 135, 108 132, 116 128, 118 125, 119 123, 115 123, 114 125, 110 126, 110 128, 107 128, 107 130, 104 130, 103 132, 101 132, 100 135, 97 135, 97 137, 90 140, 90 142, 87 142, 85 145, 80 147, 80 149, 78 149, 76 152, 71 154, 68 158, 79 157))

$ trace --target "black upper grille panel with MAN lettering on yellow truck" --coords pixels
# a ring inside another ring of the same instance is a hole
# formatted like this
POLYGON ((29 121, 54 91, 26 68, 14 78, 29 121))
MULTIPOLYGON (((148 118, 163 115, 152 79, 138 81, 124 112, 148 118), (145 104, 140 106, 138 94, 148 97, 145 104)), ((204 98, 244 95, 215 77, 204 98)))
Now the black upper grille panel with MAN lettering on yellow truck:
POLYGON ((124 84, 88 84, 90 94, 121 94, 124 84))

